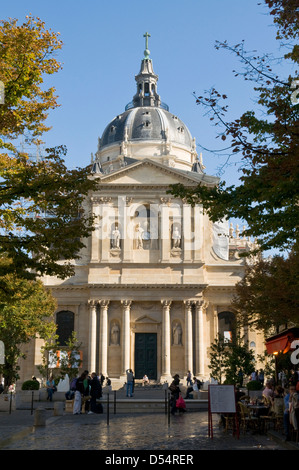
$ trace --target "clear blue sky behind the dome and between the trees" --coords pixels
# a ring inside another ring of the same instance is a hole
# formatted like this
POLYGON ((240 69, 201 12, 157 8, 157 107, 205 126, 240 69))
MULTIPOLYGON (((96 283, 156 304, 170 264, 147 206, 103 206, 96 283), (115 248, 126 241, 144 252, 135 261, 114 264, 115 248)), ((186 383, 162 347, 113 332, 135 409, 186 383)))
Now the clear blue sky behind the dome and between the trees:
MULTIPOLYGON (((64 43, 57 56, 63 69, 46 80, 56 88, 61 107, 50 113, 52 130, 44 139, 47 146, 67 146, 69 167, 90 162, 98 136, 135 94, 146 31, 151 34, 150 57, 162 101, 184 121, 197 144, 209 149, 221 148, 221 142, 196 106, 194 91, 201 95, 215 86, 227 94, 232 118, 254 106, 252 84, 234 77, 236 58, 217 51, 215 41, 237 44, 244 39, 247 50, 261 54, 277 49, 276 28, 258 0, 2 3, 2 19, 22 22, 29 13, 45 21, 48 29, 59 31, 64 43)), ((206 172, 216 174, 221 160, 205 151, 203 159, 206 172)), ((226 169, 227 183, 236 182, 236 169, 226 169)))

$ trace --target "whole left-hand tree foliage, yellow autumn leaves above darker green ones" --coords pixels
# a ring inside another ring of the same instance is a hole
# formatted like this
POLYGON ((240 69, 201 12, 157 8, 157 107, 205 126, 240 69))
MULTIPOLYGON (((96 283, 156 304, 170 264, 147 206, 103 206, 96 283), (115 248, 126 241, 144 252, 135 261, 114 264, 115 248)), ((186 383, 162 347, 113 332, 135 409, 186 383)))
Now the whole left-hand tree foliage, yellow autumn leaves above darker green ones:
POLYGON ((89 169, 68 170, 63 145, 47 149, 41 161, 17 145, 21 136, 38 145, 49 130, 48 112, 59 105, 55 88, 42 85, 46 75, 60 70, 55 54, 61 47, 59 33, 39 18, 0 23, 0 257, 10 260, 6 270, 27 278, 72 275, 93 224, 82 208, 96 186, 89 169))

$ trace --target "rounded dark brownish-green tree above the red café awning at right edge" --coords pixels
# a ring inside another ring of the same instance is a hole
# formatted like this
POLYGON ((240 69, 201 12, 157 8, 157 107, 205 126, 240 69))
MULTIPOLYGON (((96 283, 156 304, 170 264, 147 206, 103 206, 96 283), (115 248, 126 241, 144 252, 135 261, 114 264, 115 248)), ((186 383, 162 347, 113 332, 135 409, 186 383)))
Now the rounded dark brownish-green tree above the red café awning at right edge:
POLYGON ((232 302, 239 321, 265 333, 280 325, 299 325, 298 272, 295 252, 248 265, 232 302))

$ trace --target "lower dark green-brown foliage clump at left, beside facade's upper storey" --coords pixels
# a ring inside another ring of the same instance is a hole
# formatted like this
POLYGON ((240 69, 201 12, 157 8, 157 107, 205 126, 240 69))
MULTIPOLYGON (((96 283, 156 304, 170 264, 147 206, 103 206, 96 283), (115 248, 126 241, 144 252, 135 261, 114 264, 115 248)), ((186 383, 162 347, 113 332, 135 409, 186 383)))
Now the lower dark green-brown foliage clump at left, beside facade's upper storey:
POLYGON ((52 149, 38 162, 19 156, 17 166, 0 171, 0 256, 11 260, 4 272, 0 266, 0 275, 73 274, 73 260, 92 230, 93 216, 83 204, 95 186, 87 168, 66 168, 64 153, 63 147, 52 149))

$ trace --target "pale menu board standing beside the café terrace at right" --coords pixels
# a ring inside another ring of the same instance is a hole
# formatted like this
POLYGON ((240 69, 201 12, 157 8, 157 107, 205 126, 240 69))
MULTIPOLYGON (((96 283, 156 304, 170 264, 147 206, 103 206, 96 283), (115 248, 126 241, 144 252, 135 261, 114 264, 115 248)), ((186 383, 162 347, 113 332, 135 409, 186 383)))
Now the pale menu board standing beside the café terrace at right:
POLYGON ((236 413, 234 385, 209 385, 210 413, 236 413))

